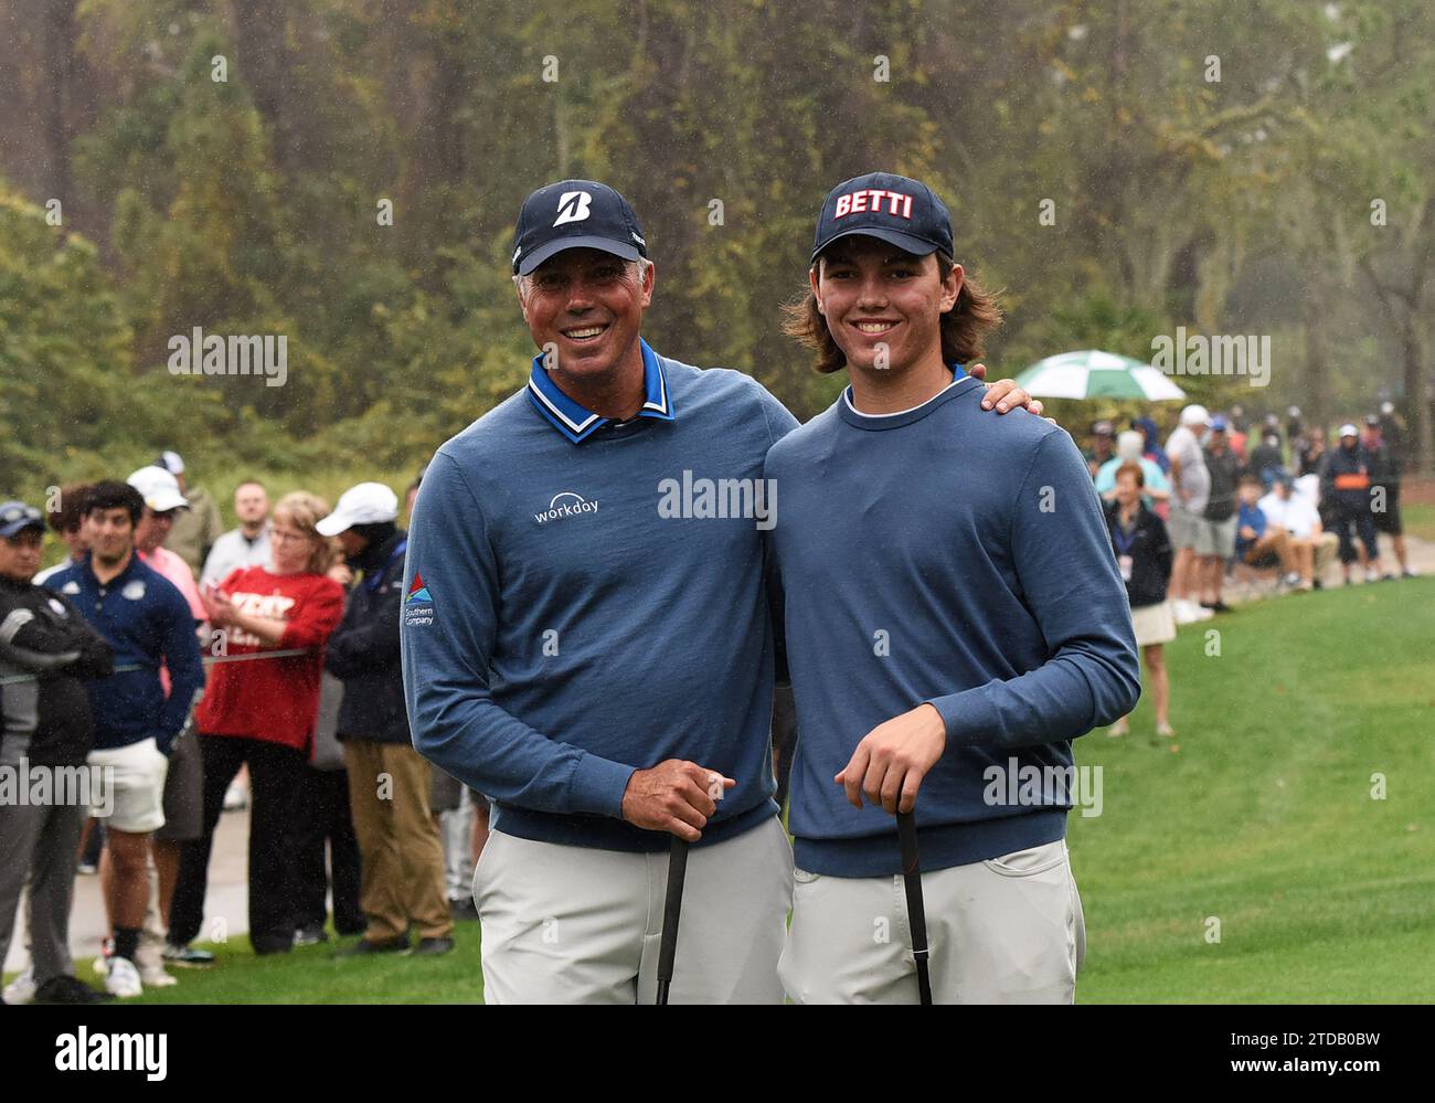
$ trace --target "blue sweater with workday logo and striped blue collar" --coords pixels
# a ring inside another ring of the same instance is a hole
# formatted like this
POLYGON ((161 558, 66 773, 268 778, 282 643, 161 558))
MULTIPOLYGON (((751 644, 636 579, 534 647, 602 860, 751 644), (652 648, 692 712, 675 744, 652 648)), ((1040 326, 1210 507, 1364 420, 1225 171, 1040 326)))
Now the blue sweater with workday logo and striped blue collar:
POLYGON ((535 360, 439 448, 413 508, 413 744, 524 839, 667 847, 621 820, 631 773, 666 758, 738 781, 702 844, 776 814, 765 531, 700 500, 705 478, 761 477, 796 421, 749 376, 643 350, 644 416, 594 421, 535 360))

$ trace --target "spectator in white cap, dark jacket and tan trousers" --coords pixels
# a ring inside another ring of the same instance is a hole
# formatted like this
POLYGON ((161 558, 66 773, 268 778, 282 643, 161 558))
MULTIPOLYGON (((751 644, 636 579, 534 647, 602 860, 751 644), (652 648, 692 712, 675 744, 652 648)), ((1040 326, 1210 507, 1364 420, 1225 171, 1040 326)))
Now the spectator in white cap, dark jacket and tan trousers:
POLYGON ((344 684, 337 735, 349 770, 349 804, 363 859, 359 905, 369 926, 343 955, 453 949, 443 843, 429 810, 428 761, 413 750, 403 705, 399 610, 408 534, 399 498, 382 483, 340 495, 317 529, 339 539, 354 582, 324 664, 344 684))

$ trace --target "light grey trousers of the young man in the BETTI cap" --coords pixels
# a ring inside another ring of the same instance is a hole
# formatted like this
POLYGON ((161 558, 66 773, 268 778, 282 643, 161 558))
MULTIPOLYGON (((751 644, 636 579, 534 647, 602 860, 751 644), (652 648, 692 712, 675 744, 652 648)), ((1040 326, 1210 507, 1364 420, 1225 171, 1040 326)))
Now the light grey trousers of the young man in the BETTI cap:
MULTIPOLYGON (((897 839, 893 839, 893 850, 897 839)), ((798 1004, 916 1004, 900 876, 794 870, 779 974, 798 1004)), ((1069 1004, 1086 957, 1063 839, 921 876, 936 1004, 1069 1004)))

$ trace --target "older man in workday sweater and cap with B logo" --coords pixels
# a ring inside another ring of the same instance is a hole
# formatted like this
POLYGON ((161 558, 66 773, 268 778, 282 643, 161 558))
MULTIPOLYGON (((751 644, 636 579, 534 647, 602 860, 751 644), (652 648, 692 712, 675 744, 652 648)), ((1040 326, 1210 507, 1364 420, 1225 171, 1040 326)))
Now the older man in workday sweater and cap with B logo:
POLYGON ((541 352, 413 507, 405 692, 415 745, 494 799, 489 1002, 650 1002, 672 834, 695 843, 673 1002, 782 1000, 758 481, 796 422, 752 378, 649 348, 647 253, 603 184, 524 201, 512 266, 541 352))

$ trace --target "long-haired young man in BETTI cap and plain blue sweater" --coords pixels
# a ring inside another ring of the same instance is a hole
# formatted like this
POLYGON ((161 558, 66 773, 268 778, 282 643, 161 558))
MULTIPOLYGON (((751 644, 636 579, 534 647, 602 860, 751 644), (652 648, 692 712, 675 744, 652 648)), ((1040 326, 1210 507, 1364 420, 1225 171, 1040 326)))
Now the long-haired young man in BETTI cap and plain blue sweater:
POLYGON ((997 310, 953 257, 926 185, 850 180, 789 316, 851 378, 765 467, 802 734, 781 962, 799 1002, 917 1002, 893 819, 913 809, 936 1001, 1069 1002, 1071 740, 1141 692, 1082 455, 1040 418, 982 415, 961 363, 997 310))

